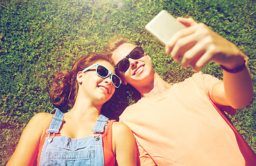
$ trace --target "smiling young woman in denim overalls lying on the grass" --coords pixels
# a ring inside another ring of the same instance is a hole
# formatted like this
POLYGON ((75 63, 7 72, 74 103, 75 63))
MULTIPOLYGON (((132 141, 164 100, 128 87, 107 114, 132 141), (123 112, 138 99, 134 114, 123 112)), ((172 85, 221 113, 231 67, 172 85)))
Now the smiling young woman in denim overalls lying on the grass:
POLYGON ((100 113, 121 84, 114 72, 107 57, 91 54, 57 73, 51 102, 71 110, 34 116, 7 165, 136 165, 130 129, 100 113))

